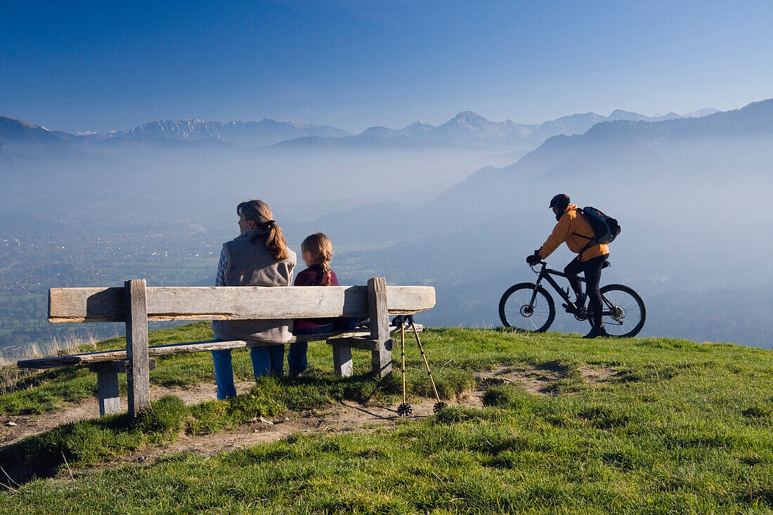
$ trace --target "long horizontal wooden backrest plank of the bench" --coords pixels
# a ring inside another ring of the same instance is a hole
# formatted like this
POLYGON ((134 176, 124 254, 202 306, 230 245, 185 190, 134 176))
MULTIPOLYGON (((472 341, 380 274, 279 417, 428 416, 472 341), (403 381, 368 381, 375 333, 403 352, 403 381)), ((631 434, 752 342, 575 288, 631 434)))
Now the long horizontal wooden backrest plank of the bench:
MULTIPOLYGON (((369 316, 366 286, 145 288, 148 320, 292 319, 369 316)), ((390 314, 435 304, 431 286, 386 286, 390 314)), ((126 322, 125 288, 51 288, 49 322, 126 322)))

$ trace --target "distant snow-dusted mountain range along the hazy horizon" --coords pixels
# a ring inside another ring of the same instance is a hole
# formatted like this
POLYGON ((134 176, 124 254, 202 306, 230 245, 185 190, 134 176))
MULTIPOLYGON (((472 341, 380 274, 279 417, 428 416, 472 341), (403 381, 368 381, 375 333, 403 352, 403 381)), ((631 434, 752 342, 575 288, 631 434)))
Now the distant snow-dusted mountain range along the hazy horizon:
POLYGON ((27 121, 0 116, 0 155, 23 152, 44 154, 53 152, 94 151, 124 145, 200 145, 209 142, 216 145, 234 145, 256 148, 285 143, 283 146, 383 146, 421 147, 421 145, 470 146, 531 150, 547 138, 555 135, 583 134, 594 124, 602 121, 662 121, 679 118, 702 117, 717 112, 705 108, 679 115, 647 117, 628 111, 613 111, 609 116, 594 113, 571 114, 545 121, 543 124, 518 124, 512 120, 490 121, 472 111, 462 111, 451 120, 437 127, 424 121, 416 121, 404 128, 393 130, 382 126, 366 128, 352 135, 331 125, 314 125, 303 121, 277 121, 264 118, 261 121, 203 121, 156 120, 138 124, 128 131, 69 134, 48 129, 27 121))

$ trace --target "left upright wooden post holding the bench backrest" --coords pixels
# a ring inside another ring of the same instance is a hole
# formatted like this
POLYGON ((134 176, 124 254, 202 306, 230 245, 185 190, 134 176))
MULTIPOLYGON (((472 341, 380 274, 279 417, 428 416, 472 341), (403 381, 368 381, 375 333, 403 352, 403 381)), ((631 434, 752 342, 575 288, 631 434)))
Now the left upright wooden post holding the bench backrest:
POLYGON ((136 418, 150 405, 150 373, 148 371, 148 298, 145 279, 124 283, 126 292, 126 357, 131 362, 128 370, 129 418, 136 418))

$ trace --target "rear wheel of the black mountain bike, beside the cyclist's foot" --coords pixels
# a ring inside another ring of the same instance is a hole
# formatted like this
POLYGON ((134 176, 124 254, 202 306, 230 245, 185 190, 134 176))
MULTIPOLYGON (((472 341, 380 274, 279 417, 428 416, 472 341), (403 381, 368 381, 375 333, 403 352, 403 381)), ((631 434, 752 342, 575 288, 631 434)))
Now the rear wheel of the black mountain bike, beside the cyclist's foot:
POLYGON ((610 336, 630 338, 644 327, 647 308, 642 295, 625 285, 606 285, 601 288, 604 315, 601 322, 610 336))

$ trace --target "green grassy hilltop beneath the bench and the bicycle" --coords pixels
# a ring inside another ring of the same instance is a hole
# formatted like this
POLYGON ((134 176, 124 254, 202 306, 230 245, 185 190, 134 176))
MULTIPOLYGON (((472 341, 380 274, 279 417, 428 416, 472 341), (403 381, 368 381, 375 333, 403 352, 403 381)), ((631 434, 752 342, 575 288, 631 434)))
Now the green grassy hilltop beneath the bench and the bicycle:
MULTIPOLYGON (((154 332, 151 344, 209 334, 193 324, 154 332)), ((409 343, 408 389, 418 404, 431 388, 409 343)), ((374 380, 363 354, 354 377, 335 377, 329 346, 316 343, 308 375, 258 380, 232 401, 165 396, 135 425, 120 415, 87 419, 5 445, 0 466, 11 477, 0 471, 9 486, 0 513, 773 511, 771 351, 497 329, 429 329, 422 343, 451 404, 438 415, 121 462, 196 435, 238 435, 256 417, 313 417, 340 403, 397 407, 399 370, 374 380)), ((247 353, 234 352, 234 368, 250 380, 247 353)), ((4 423, 96 403, 94 374, 82 369, 4 373, 4 423)), ((209 355, 162 358, 151 382, 211 384, 209 355)))

